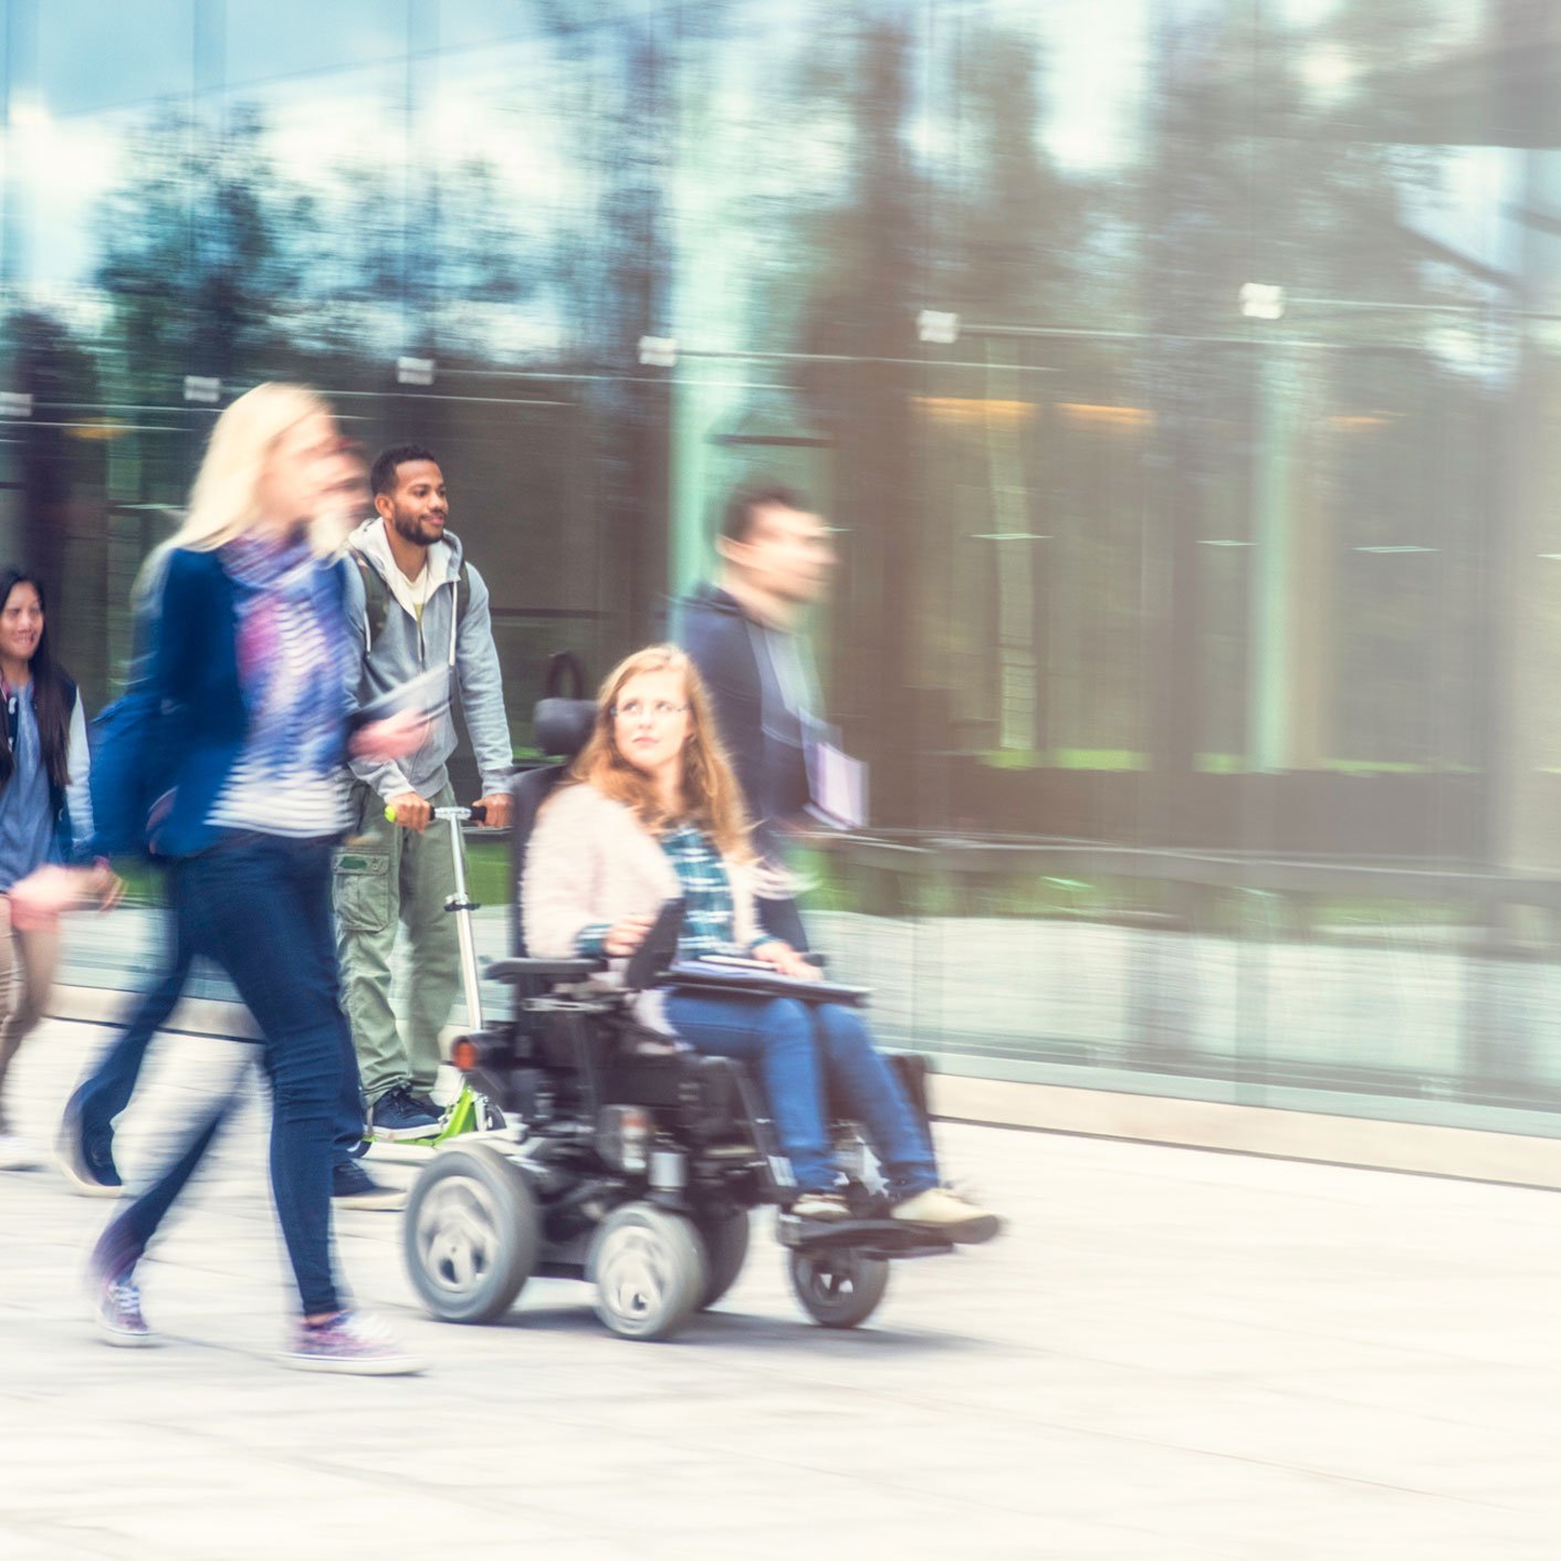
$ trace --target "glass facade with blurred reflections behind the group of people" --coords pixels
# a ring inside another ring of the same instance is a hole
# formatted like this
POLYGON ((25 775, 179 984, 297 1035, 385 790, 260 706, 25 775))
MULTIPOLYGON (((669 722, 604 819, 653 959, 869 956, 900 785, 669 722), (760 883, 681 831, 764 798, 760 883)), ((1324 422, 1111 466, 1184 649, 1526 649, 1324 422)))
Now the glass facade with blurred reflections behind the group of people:
POLYGON ((521 754, 765 473, 840 529, 874 820, 812 915, 888 1038, 1561 1135, 1545 0, 0 0, 0 553, 89 702, 262 378, 440 451, 521 754))

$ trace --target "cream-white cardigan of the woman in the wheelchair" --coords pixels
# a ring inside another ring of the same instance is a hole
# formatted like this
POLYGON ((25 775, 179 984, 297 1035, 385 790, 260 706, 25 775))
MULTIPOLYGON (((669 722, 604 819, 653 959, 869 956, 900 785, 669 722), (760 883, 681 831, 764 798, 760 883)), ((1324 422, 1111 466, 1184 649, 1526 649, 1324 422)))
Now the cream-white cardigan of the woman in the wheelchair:
MULTIPOLYGON (((752 877, 726 860, 732 880, 732 941, 746 949, 759 935, 752 877)), ((621 802, 592 785, 565 782, 542 805, 526 848, 521 916, 526 949, 539 960, 567 960, 593 923, 654 916, 682 898, 677 869, 660 841, 621 802)))

